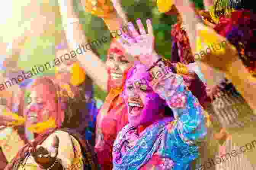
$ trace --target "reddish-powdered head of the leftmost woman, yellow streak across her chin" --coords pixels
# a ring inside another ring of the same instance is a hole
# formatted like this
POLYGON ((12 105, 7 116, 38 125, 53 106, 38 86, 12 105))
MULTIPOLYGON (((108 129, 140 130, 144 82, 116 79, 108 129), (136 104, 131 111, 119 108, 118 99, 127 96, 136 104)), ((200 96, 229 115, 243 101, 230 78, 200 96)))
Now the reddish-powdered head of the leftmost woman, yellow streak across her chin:
POLYGON ((50 83, 50 81, 39 82, 32 86, 27 101, 29 105, 24 112, 26 127, 38 134, 47 129, 56 128, 64 121, 64 112, 60 110, 56 89, 50 83))

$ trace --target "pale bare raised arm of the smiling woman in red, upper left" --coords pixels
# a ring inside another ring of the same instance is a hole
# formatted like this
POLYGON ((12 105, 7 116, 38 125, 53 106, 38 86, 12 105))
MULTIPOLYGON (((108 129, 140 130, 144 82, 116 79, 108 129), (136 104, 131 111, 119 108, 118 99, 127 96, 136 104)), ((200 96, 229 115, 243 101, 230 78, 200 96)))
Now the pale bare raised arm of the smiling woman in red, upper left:
MULTIPOLYGON (((58 2, 62 16, 62 24, 66 25, 64 29, 69 48, 77 49, 78 45, 85 45, 88 39, 73 9, 73 0, 58 0, 58 2)), ((103 61, 90 50, 86 50, 83 54, 77 55, 77 59, 85 69, 86 74, 88 74, 102 90, 107 91, 108 74, 103 61)))

